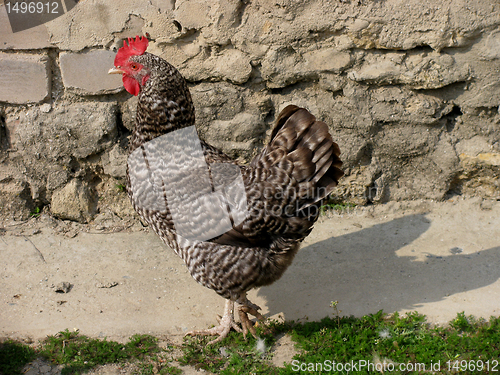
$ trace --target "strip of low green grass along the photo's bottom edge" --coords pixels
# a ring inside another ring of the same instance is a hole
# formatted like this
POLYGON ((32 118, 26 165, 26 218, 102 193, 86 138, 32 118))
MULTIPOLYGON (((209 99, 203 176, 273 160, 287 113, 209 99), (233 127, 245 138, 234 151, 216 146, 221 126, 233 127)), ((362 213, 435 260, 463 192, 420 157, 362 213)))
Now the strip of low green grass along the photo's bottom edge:
MULTIPOLYGON (((6 341, 0 344, 0 373, 20 374, 22 367, 37 355, 62 364, 63 374, 83 374, 107 363, 132 363, 138 369, 134 373, 141 375, 180 374, 182 369, 171 365, 174 359, 183 366, 216 374, 296 374, 298 370, 313 374, 342 373, 321 367, 325 361, 330 361, 330 365, 359 361, 393 365, 394 370, 385 371, 391 374, 500 371, 498 317, 487 321, 462 312, 449 325, 440 327, 431 326, 417 312, 388 315, 379 311, 354 318, 340 316, 337 301, 331 306, 333 315, 318 322, 270 321, 266 327, 257 327, 258 339, 250 336, 244 340, 241 334, 232 332, 220 343, 207 347, 211 337, 186 337, 178 358, 172 358, 171 351, 160 348, 158 340, 149 335, 135 335, 121 344, 66 330, 47 337, 37 350, 6 341), (295 341, 298 354, 284 367, 276 367, 271 362, 273 345, 283 333, 295 341), (313 367, 298 369, 298 364, 313 364, 313 367), (415 367, 402 371, 398 368, 400 364, 415 367), (425 369, 417 368, 418 364, 425 369), (436 364, 439 371, 431 369, 436 364)), ((369 374, 374 370, 351 372, 369 374)))

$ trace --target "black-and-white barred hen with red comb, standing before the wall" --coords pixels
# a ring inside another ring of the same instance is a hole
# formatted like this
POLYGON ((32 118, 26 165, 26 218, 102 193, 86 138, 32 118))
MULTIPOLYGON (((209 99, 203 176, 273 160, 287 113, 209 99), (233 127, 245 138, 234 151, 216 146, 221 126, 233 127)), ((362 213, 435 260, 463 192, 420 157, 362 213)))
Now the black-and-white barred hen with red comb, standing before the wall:
POLYGON ((246 294, 278 280, 292 263, 343 175, 339 147, 325 123, 289 105, 267 146, 249 165, 238 165, 197 137, 186 81, 147 46, 145 37, 129 38, 109 71, 139 95, 128 195, 193 278, 227 299, 219 326, 189 334, 218 335, 211 343, 231 328, 255 335, 247 314, 263 316, 246 294))

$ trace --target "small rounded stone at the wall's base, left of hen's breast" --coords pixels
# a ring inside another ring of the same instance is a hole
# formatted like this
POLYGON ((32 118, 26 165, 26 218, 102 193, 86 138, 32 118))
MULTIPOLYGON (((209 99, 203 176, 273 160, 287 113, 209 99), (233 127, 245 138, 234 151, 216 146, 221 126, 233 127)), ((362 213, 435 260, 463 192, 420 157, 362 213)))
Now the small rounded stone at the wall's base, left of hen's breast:
POLYGON ((60 219, 86 223, 96 212, 96 199, 86 183, 74 179, 54 192, 50 210, 60 219))

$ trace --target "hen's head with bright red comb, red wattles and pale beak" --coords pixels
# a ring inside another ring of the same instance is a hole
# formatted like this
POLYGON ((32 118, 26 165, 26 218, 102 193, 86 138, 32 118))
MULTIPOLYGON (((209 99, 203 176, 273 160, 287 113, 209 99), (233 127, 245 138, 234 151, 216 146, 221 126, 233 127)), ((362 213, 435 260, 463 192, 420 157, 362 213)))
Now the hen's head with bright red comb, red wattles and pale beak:
POLYGON ((134 56, 141 56, 148 48, 146 37, 137 36, 123 41, 123 47, 118 50, 115 57, 115 67, 109 74, 123 74, 123 86, 132 95, 139 95, 141 87, 146 84, 150 72, 144 65, 134 61, 134 56))

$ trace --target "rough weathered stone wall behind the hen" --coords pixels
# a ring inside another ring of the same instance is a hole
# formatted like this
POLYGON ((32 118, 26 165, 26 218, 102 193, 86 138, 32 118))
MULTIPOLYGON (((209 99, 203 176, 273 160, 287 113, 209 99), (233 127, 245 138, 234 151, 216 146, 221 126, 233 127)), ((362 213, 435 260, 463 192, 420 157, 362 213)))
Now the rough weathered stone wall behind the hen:
POLYGON ((286 104, 327 122, 356 204, 500 198, 500 4, 81 0, 12 33, 0 5, 0 215, 132 215, 125 37, 189 80, 200 135, 249 160, 286 104))

